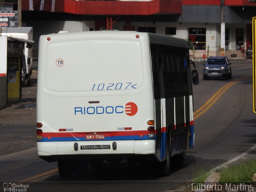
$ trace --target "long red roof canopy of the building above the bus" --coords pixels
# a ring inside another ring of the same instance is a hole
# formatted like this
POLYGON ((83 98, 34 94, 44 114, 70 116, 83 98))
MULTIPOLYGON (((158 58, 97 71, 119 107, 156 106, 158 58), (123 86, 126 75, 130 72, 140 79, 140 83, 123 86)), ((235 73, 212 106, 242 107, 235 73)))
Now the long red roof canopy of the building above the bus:
MULTIPOLYGON (((40 10, 41 0, 33 0, 33 10, 40 10)), ((55 0, 54 12, 80 15, 151 15, 181 14, 180 0, 97 1, 55 0)), ((29 11, 29 0, 22 0, 22 11, 29 11)), ((52 0, 44 0, 44 11, 52 11, 52 0)))

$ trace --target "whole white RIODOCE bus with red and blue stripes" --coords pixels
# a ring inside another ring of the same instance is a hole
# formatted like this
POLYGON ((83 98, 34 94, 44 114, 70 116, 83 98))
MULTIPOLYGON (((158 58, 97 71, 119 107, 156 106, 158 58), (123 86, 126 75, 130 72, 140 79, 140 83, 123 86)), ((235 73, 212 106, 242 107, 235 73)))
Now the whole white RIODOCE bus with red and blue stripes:
MULTIPOLYGON (((194 146, 186 41, 130 31, 43 35, 37 88, 38 156, 62 177, 103 160, 154 162, 161 175, 194 146)), ((193 63, 194 64, 194 63, 193 63)))

